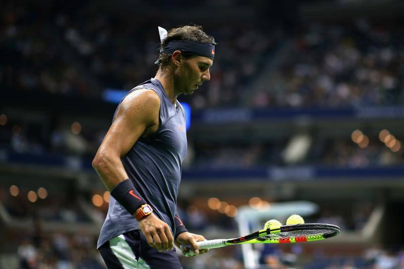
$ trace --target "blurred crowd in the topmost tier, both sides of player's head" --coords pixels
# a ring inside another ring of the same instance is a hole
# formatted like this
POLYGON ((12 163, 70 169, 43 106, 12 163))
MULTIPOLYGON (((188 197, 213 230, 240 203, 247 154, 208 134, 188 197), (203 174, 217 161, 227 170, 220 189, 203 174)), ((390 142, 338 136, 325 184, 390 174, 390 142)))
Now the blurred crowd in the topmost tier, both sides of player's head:
MULTIPOLYGON (((91 12, 85 3, 70 9, 8 3, 0 16, 0 85, 9 90, 100 98, 105 89, 129 90, 157 71, 158 25, 148 20, 131 20, 136 25, 131 27, 127 18, 91 12)), ((346 26, 302 26, 294 35, 254 22, 205 27, 216 37, 218 53, 211 81, 192 98, 182 97, 195 109, 404 101, 400 27, 358 20, 346 26), (264 74, 265 86, 251 89, 282 49, 285 57, 264 74)))

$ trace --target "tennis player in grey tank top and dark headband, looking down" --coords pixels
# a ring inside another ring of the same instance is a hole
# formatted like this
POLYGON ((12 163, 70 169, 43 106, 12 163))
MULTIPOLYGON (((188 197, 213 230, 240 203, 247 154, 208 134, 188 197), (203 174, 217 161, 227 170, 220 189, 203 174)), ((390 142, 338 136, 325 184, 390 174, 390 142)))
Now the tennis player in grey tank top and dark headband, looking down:
POLYGON ((155 78, 122 99, 92 162, 111 192, 97 243, 108 268, 182 268, 174 244, 206 252, 196 245, 205 238, 189 233, 177 214, 187 151, 185 114, 177 97, 210 80, 216 43, 200 26, 159 31, 155 78))

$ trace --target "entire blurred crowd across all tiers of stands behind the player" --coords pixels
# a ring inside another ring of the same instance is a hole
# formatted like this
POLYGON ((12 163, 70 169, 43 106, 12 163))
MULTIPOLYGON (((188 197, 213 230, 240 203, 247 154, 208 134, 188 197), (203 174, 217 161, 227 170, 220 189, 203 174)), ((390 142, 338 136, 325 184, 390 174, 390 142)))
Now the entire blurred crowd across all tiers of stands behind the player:
MULTIPOLYGON (((67 6, 52 1, 26 5, 7 1, 0 9, 0 87, 19 94, 45 92, 60 98, 74 95, 94 100, 102 98, 106 89, 129 90, 157 71, 154 62, 159 51, 159 25, 150 23, 156 20, 153 16, 144 16, 94 12, 89 3, 79 1, 67 6)), ((160 26, 169 29, 175 25, 165 22, 160 26)), ((255 21, 237 19, 203 26, 218 42, 217 55, 211 81, 191 97, 181 96, 181 101, 187 101, 193 109, 404 103, 404 32, 400 26, 374 26, 358 20, 345 26, 304 25, 294 35, 282 28, 265 28, 255 21), (269 65, 275 58, 278 63, 271 69, 269 65), (261 70, 269 73, 262 74, 261 70), (264 86, 251 88, 259 78, 264 86)), ((24 155, 23 162, 47 156, 52 163, 57 156, 74 156, 90 164, 107 131, 96 124, 67 123, 59 116, 45 115, 40 107, 40 116, 33 121, 25 117, 30 114, 28 110, 17 109, 23 116, 7 118, 0 112, 2 163, 7 164, 8 151, 30 155, 24 155)), ((291 164, 285 157, 290 139, 220 143, 190 140, 185 164, 189 169, 286 166, 291 164)), ((393 152, 378 137, 370 137, 365 147, 348 137, 312 140, 316 143, 293 164, 363 168, 404 162, 403 149, 393 152)), ((90 223, 81 206, 63 193, 28 201, 26 189, 11 195, 8 187, 0 186, 2 207, 12 218, 34 223, 31 234, 7 235, 10 238, 6 241, 16 244, 21 268, 104 268, 94 248, 96 237, 86 231, 44 233, 38 222, 90 223)), ((90 199, 87 202, 90 204, 90 199)), ((321 208, 313 222, 361 230, 373 206, 343 208, 324 204, 321 208)), ((204 234, 208 230, 236 230, 233 218, 193 206, 191 201, 180 201, 178 210, 191 231, 204 234)), ((106 208, 97 211, 95 216, 103 221, 106 208)), ((260 261, 275 268, 294 266, 301 260, 298 246, 261 247, 260 261)), ((313 263, 308 263, 307 268, 404 267, 402 249, 380 246, 353 257, 330 259, 321 250, 310 257, 313 263)), ((210 251, 195 259, 181 256, 181 260, 185 268, 242 268, 237 247, 210 251)))

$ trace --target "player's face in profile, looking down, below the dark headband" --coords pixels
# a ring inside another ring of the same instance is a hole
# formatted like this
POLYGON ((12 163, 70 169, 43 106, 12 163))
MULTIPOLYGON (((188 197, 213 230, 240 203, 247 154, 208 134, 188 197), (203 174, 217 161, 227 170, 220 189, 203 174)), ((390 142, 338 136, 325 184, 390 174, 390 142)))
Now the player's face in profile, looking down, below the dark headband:
POLYGON ((211 79, 209 68, 213 60, 207 57, 183 58, 176 71, 177 89, 180 93, 191 94, 205 80, 211 79))

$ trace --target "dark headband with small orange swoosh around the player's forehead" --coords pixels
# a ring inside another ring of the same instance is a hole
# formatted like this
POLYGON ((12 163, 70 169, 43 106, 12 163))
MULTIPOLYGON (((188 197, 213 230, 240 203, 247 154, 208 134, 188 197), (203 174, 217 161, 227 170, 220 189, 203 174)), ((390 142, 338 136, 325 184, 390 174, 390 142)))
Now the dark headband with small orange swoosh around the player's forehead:
POLYGON ((207 57, 212 60, 215 58, 215 46, 211 43, 173 40, 168 42, 168 44, 164 47, 163 52, 173 53, 176 50, 180 50, 181 52, 189 55, 207 57))

